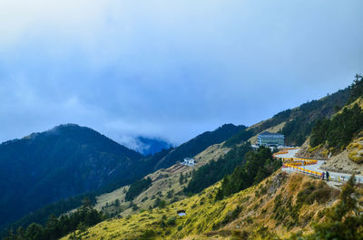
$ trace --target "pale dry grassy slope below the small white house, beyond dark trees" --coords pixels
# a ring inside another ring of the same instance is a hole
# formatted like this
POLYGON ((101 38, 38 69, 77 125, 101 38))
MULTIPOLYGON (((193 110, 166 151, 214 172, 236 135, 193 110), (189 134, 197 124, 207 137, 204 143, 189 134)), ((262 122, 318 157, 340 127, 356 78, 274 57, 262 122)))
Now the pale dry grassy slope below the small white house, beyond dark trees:
MULTIPOLYGON (((175 200, 181 200, 185 198, 186 196, 184 196, 182 193, 182 187, 186 186, 187 183, 182 185, 180 184, 180 174, 182 173, 184 176, 187 174, 189 175, 193 169, 200 168, 202 165, 210 162, 211 160, 217 160, 220 158, 229 150, 228 148, 222 147, 222 145, 222 143, 212 145, 208 149, 205 149, 200 154, 196 155, 194 157, 196 160, 196 165, 194 168, 182 166, 181 164, 175 164, 171 168, 162 168, 152 174, 149 174, 145 178, 152 179, 152 187, 149 187, 143 191, 142 194, 132 200, 132 203, 136 204, 138 207, 140 207, 140 209, 149 209, 150 206, 154 205, 156 197, 165 200, 167 203, 170 203, 173 198, 175 200), (173 191, 172 197, 167 197, 167 193, 171 190, 173 191), (158 194, 159 192, 160 194, 158 194)), ((96 197, 97 204, 95 205, 95 208, 97 210, 103 209, 103 211, 111 215, 121 212, 120 216, 130 216, 133 213, 138 212, 139 210, 132 210, 130 202, 125 202, 124 200, 124 189, 127 190, 128 187, 129 186, 121 187, 111 193, 96 197), (113 206, 113 203, 116 199, 120 200, 120 206, 113 206), (106 204, 108 207, 105 207, 106 204)))

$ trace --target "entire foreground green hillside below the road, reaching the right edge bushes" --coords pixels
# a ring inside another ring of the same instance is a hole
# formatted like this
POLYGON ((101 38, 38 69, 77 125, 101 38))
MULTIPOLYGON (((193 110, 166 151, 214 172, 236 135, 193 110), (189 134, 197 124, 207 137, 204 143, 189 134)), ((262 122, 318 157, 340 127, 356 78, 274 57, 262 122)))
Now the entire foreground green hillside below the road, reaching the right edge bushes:
MULTIPOLYGON (((361 192, 359 187, 346 187, 348 189, 340 195, 341 201, 333 205, 338 199, 338 190, 328 187, 319 179, 299 174, 277 172, 259 185, 221 201, 215 200, 218 187, 221 187, 221 183, 208 187, 200 195, 122 219, 104 221, 85 231, 77 231, 74 236, 104 240, 294 239, 291 233, 300 235, 301 230, 308 239, 315 239, 309 235, 316 236, 321 232, 336 236, 349 232, 353 234, 352 237, 361 236, 357 227, 350 229, 341 226, 342 232, 329 228, 334 217, 340 216, 338 219, 341 220, 341 216, 346 216, 349 210, 356 207, 340 208, 341 204, 344 205, 350 199, 347 193, 351 193, 354 188, 361 192), (338 213, 335 209, 342 210, 339 216, 334 214, 338 213), (178 216, 179 211, 184 211, 186 216, 178 216), (310 224, 314 222, 319 225, 312 227, 310 224)), ((350 223, 358 223, 362 218, 352 217, 350 223)), ((338 222, 336 226, 339 226, 338 222)), ((69 235, 63 239, 74 238, 69 235)))

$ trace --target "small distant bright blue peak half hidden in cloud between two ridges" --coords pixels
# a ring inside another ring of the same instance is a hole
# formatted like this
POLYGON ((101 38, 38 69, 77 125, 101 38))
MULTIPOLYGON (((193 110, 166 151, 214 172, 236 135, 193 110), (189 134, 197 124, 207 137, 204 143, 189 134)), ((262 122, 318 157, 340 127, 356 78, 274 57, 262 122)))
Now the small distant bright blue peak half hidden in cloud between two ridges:
POLYGON ((162 151, 162 149, 170 149, 172 147, 171 143, 163 139, 137 137, 136 141, 138 149, 135 150, 142 153, 144 156, 152 155, 162 151))

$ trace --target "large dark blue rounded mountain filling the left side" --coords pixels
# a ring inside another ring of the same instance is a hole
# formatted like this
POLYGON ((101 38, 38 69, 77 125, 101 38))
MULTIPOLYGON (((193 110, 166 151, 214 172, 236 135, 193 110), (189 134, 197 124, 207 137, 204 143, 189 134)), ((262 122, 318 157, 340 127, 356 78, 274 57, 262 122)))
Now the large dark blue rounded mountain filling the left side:
POLYGON ((0 226, 65 197, 131 183, 148 173, 147 165, 138 152, 75 124, 6 141, 0 145, 0 226))

